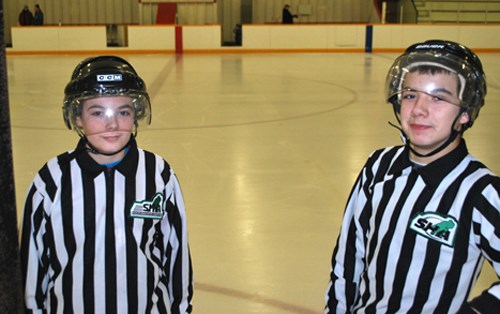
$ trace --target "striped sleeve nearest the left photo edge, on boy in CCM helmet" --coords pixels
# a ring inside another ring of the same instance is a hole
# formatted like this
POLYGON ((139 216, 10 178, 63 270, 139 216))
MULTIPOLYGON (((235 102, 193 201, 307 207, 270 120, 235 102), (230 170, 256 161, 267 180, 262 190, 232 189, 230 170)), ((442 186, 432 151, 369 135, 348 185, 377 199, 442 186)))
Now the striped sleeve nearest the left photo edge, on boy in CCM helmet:
POLYGON ((32 184, 24 206, 20 248, 26 313, 45 313, 49 282, 48 254, 43 241, 46 234, 45 201, 44 194, 32 184))

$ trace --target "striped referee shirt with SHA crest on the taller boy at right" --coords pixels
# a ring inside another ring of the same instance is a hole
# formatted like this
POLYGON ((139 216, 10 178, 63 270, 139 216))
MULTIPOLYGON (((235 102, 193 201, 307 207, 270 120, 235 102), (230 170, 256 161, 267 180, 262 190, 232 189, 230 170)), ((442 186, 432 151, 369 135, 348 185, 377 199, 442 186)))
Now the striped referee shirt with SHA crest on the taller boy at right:
MULTIPOLYGON (((457 313, 484 259, 500 276, 500 180, 465 141, 412 167, 374 152, 351 191, 332 257, 325 313, 457 313)), ((500 310, 500 281, 472 304, 500 310)), ((489 311, 489 312, 488 312, 489 311)))

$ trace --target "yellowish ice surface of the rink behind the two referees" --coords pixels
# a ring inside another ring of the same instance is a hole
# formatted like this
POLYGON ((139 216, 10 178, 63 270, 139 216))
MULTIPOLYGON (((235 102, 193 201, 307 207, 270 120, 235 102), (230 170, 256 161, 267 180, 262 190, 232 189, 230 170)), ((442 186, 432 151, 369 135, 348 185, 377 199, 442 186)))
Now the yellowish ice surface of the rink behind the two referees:
MULTIPOLYGON (((63 89, 86 56, 8 56, 18 211, 35 173, 69 149, 63 89)), ((395 54, 124 55, 153 124, 140 146, 177 172, 188 209, 195 313, 320 313, 351 185, 399 144, 384 102, 395 54)), ((486 106, 469 149, 500 173, 500 55, 481 55, 486 106)), ((474 291, 496 280, 488 266, 474 291)))

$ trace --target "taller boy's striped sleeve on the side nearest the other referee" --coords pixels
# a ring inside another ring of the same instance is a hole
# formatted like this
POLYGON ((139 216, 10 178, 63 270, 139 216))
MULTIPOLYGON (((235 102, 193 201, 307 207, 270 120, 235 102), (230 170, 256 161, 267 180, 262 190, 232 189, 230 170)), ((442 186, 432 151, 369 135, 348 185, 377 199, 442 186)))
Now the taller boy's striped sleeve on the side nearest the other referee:
POLYGON ((349 313, 359 290, 364 269, 365 239, 362 212, 366 204, 363 187, 366 168, 353 186, 332 256, 330 281, 325 295, 324 313, 349 313))

